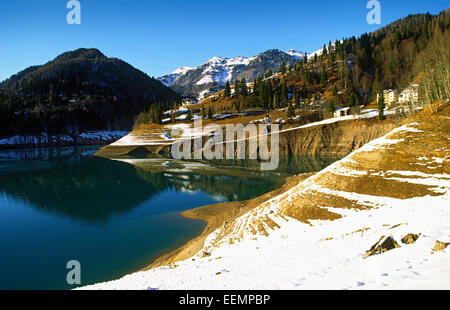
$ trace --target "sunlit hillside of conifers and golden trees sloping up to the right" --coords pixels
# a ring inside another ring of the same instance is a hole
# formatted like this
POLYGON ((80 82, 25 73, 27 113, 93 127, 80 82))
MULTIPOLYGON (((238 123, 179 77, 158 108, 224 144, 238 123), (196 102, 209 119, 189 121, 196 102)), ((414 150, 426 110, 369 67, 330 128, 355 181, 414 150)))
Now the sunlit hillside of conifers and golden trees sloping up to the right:
POLYGON ((420 84, 422 103, 442 101, 449 98, 449 27, 449 10, 411 15, 359 38, 329 42, 308 59, 283 65, 272 78, 269 72, 250 86, 248 80, 228 83, 203 104, 213 112, 319 103, 331 111, 368 105, 383 89, 403 89, 413 82, 420 84))

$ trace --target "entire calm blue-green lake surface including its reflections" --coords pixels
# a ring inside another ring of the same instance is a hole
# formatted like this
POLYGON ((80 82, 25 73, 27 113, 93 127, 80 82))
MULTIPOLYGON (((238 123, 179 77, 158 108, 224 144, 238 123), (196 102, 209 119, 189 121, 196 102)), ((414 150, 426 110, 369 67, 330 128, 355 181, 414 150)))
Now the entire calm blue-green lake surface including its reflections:
POLYGON ((70 260, 82 285, 113 280, 199 235, 205 223, 180 211, 257 197, 285 178, 337 158, 180 162, 94 157, 97 147, 0 151, 0 289, 70 289, 70 260))

